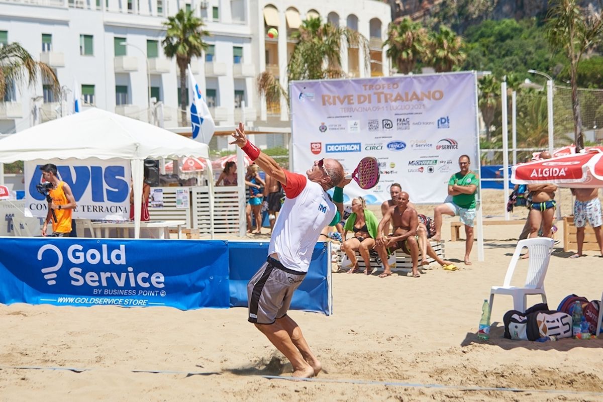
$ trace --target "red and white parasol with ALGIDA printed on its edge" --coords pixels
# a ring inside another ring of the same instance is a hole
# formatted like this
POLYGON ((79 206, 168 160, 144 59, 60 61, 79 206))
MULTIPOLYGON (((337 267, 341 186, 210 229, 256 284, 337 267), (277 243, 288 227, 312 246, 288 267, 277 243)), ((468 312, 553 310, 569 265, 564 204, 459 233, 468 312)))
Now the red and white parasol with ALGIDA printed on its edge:
POLYGON ((512 166, 515 184, 557 184, 561 187, 603 187, 603 150, 593 147, 579 154, 512 166))

